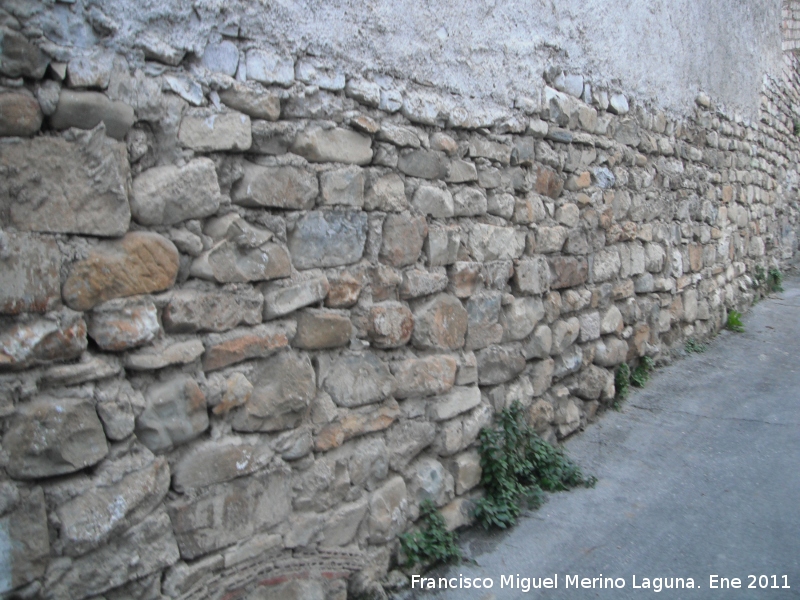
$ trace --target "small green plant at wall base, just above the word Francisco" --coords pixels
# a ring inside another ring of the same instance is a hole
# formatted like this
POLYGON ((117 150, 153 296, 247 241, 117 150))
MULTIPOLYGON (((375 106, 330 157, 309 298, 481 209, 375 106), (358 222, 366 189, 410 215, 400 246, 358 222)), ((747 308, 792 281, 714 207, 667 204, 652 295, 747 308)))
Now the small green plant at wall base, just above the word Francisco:
POLYGON ((429 567, 459 560, 461 550, 458 548, 458 536, 454 531, 447 530, 444 517, 430 499, 420 504, 419 516, 421 528, 400 536, 400 547, 406 557, 405 566, 429 567))

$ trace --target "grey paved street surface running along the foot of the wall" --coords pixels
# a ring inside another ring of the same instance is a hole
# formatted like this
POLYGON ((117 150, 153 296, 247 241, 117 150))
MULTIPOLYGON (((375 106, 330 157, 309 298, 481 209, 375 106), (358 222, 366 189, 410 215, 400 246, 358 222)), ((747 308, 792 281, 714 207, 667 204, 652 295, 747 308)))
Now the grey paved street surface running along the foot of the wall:
POLYGON ((657 597, 800 599, 800 280, 785 288, 744 315, 745 333, 659 369, 569 441, 595 489, 550 495, 510 532, 463 534, 468 560, 428 575, 492 578, 491 589, 403 597, 647 598, 655 578, 681 577, 696 589, 657 597), (500 588, 517 574, 557 574, 558 589, 500 588), (601 574, 624 588, 564 588, 566 575, 601 574), (710 589, 712 575, 741 588, 710 589), (791 588, 770 589, 784 575, 791 588))

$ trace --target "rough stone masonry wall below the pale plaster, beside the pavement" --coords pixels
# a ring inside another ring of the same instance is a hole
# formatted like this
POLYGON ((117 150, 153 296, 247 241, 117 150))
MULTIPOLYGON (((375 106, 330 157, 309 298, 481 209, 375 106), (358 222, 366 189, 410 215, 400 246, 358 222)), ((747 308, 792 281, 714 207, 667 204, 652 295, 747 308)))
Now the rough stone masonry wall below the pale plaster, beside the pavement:
POLYGON ((12 596, 368 589, 421 500, 469 521, 496 411, 572 434, 797 247, 793 55, 752 122, 559 69, 472 111, 235 35, 56 47, 25 6, 0 11, 12 596))

